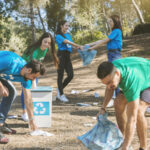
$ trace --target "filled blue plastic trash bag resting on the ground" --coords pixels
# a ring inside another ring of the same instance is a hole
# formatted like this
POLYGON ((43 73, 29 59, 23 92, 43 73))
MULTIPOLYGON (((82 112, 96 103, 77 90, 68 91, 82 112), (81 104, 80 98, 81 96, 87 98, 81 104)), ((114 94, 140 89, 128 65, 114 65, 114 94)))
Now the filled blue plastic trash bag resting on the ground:
POLYGON ((123 143, 121 131, 107 119, 107 113, 99 115, 94 128, 77 139, 90 150, 116 150, 123 143))

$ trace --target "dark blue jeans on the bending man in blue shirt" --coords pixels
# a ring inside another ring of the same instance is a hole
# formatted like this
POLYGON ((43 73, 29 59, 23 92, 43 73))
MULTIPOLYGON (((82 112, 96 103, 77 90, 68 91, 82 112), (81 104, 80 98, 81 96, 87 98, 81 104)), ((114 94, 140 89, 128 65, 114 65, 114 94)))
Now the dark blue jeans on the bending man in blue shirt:
POLYGON ((0 82, 5 87, 7 87, 9 91, 9 96, 3 97, 2 102, 0 104, 0 123, 4 123, 7 118, 7 114, 11 108, 11 105, 17 96, 17 91, 14 85, 10 81, 0 78, 0 82))

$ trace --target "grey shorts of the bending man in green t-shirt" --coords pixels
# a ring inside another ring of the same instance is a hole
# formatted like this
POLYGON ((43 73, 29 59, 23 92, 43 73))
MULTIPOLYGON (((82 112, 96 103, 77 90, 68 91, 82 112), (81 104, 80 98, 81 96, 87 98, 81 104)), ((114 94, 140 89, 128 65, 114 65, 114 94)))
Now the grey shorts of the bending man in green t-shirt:
POLYGON ((150 104, 150 88, 147 88, 141 92, 140 99, 150 104))

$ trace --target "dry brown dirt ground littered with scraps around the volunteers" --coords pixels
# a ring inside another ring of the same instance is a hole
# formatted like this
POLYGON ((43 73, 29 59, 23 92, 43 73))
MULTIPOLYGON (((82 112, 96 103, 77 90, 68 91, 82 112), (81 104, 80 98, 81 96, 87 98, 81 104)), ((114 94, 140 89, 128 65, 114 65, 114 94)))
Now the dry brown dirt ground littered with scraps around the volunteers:
MULTIPOLYGON (((126 56, 142 56, 150 58, 150 34, 134 36, 124 40, 123 57, 126 56)), ((96 124, 95 117, 100 109, 104 99, 105 86, 96 77, 97 66, 100 62, 107 60, 105 47, 98 50, 97 57, 92 64, 87 67, 82 66, 82 62, 77 53, 72 56, 74 67, 74 79, 65 89, 65 94, 69 98, 68 103, 61 103, 58 100, 53 101, 52 106, 52 126, 51 128, 43 128, 43 130, 53 133, 54 136, 33 137, 29 135, 28 124, 21 120, 21 104, 20 93, 21 86, 15 83, 18 96, 9 115, 19 115, 17 119, 7 119, 10 127, 17 130, 16 135, 8 135, 10 142, 6 145, 0 145, 0 150, 86 150, 86 148, 77 140, 80 136, 90 130, 92 127, 84 126, 90 123, 96 124), (90 89, 89 92, 83 93, 83 90, 90 89), (72 90, 80 91, 79 94, 71 94, 72 90), (95 98, 94 93, 97 92, 100 98, 95 98), (76 103, 91 104, 90 107, 80 107, 76 103), (93 105, 98 102, 98 105, 93 105)), ((56 95, 56 79, 57 73, 51 63, 47 64, 47 75, 41 77, 39 85, 53 87, 53 96, 56 95)), ((108 108, 109 119, 116 122, 114 108, 108 108)), ((148 144, 150 150, 150 114, 146 114, 148 120, 148 144)), ((137 134, 132 142, 134 150, 139 148, 139 140, 137 134)))

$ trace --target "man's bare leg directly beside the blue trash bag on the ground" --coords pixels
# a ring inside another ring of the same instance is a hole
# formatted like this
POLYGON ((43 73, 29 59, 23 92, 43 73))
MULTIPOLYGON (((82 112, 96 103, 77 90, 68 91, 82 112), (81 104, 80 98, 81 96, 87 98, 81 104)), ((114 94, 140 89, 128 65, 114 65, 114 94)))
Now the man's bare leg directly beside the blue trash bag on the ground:
POLYGON ((126 122, 127 122, 126 104, 127 104, 126 98, 122 93, 119 93, 116 99, 114 100, 114 107, 117 124, 123 136, 125 136, 126 122))

